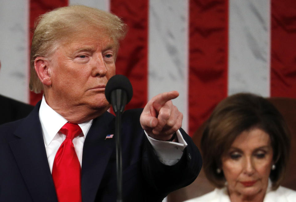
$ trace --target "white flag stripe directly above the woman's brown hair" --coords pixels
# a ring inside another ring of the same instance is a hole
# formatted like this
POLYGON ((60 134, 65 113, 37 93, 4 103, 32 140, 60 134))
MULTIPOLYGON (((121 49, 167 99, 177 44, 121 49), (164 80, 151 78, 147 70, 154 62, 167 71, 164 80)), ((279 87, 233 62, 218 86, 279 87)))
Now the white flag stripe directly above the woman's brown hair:
POLYGON ((228 94, 269 97, 270 2, 229 0, 228 94))

